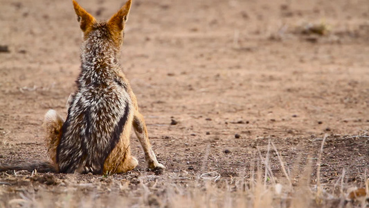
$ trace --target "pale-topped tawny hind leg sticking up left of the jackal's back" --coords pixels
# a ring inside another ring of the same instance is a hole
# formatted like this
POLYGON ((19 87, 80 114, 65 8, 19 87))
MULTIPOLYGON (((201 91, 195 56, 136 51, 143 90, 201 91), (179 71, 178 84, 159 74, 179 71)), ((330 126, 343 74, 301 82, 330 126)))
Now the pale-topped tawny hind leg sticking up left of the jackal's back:
POLYGON ((60 142, 60 137, 62 137, 62 126, 64 119, 57 114, 55 110, 48 110, 44 116, 43 126, 46 130, 45 143, 48 151, 48 155, 53 162, 55 168, 56 164, 56 149, 60 142))

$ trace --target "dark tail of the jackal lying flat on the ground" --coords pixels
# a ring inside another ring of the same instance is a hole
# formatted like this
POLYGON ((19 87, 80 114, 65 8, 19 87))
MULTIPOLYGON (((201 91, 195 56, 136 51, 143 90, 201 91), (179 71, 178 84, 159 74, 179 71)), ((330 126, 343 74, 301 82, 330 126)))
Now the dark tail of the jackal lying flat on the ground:
POLYGON ((50 162, 24 162, 21 164, 0 164, 0 172, 4 171, 37 171, 38 173, 56 173, 50 162))

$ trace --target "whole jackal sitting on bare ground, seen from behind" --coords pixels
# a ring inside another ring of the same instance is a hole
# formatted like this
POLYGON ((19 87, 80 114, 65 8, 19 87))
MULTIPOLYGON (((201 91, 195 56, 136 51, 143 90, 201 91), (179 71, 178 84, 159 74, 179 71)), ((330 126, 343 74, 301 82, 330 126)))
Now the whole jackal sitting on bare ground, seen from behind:
POLYGON ((125 173, 138 164, 131 155, 129 137, 134 132, 150 169, 163 169, 147 136, 143 116, 120 66, 120 46, 132 0, 108 21, 97 21, 76 1, 80 22, 81 72, 78 89, 69 98, 66 121, 55 110, 44 118, 50 163, 29 166, 0 165, 0 171, 32 169, 59 173, 125 173))

